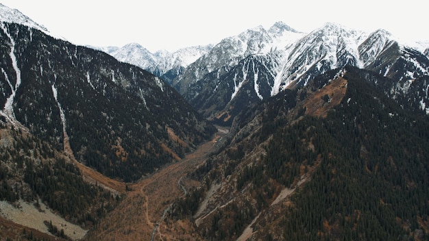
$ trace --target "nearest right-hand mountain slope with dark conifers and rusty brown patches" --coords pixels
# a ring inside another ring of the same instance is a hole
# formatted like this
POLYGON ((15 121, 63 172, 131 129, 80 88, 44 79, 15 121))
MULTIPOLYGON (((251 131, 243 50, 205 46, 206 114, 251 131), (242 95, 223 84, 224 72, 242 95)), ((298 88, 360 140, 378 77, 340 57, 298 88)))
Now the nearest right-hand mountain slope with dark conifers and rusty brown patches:
POLYGON ((171 220, 204 240, 426 240, 428 117, 367 74, 328 71, 242 112, 171 220))

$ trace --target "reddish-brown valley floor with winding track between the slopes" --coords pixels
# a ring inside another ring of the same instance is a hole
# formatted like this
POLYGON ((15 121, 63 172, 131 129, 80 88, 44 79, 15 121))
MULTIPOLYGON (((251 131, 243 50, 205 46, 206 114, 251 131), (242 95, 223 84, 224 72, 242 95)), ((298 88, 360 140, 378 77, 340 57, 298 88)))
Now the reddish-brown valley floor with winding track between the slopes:
POLYGON ((125 199, 101 220, 86 240, 192 239, 195 232, 191 223, 186 220, 167 223, 164 222, 164 214, 186 190, 199 186, 199 182, 186 178, 186 175, 204 163, 205 157, 215 151, 215 145, 225 134, 228 134, 228 129, 218 127, 215 138, 201 144, 184 159, 130 184, 131 191, 127 192, 125 199))

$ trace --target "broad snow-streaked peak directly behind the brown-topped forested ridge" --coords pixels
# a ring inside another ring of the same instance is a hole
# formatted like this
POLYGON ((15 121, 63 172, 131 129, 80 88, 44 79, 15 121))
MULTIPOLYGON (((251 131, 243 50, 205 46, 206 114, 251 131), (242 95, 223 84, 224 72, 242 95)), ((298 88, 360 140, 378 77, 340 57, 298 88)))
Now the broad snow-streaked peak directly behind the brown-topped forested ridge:
POLYGON ((358 46, 366 37, 362 31, 347 29, 335 23, 326 23, 312 31, 286 49, 288 56, 282 71, 275 77, 271 96, 301 79, 310 70, 320 74, 345 64, 363 66, 358 46))

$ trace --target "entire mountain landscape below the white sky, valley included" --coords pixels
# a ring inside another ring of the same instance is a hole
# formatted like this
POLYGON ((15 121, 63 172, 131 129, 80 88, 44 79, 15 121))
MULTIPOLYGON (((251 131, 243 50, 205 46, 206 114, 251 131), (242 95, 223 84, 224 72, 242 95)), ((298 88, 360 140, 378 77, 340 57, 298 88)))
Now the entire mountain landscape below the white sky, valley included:
POLYGON ((0 239, 429 239, 424 42, 279 22, 150 53, 0 17, 0 239))

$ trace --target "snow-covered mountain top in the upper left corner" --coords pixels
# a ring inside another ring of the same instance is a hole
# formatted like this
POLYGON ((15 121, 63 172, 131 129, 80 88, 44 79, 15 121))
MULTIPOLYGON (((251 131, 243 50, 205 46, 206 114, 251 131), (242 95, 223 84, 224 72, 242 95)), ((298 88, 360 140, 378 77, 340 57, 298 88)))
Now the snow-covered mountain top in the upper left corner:
POLYGON ((45 34, 52 35, 49 33, 48 29, 43 26, 39 25, 38 23, 32 21, 28 16, 25 16, 22 12, 19 12, 19 10, 9 8, 3 4, 0 3, 0 21, 6 22, 6 23, 17 23, 21 25, 25 25, 28 27, 32 27, 34 29, 38 29, 45 34))

